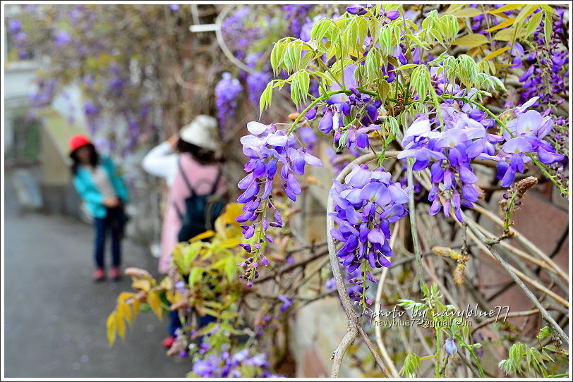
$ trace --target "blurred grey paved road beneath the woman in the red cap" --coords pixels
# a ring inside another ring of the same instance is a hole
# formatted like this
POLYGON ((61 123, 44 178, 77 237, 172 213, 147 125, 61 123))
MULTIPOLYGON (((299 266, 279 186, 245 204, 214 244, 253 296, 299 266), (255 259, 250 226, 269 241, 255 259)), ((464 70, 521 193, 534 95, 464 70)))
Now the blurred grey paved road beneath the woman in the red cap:
MULTIPOLYGON (((123 278, 95 284, 92 228, 62 216, 20 211, 6 174, 4 252, 4 375, 6 377, 183 377, 188 359, 167 357, 159 345, 166 319, 142 312, 126 340, 109 348, 107 315, 123 278)), ((108 248, 109 249, 109 248, 108 248)), ((157 260, 124 242, 124 266, 150 271, 157 260)), ((107 261, 109 264, 109 253, 107 261)))

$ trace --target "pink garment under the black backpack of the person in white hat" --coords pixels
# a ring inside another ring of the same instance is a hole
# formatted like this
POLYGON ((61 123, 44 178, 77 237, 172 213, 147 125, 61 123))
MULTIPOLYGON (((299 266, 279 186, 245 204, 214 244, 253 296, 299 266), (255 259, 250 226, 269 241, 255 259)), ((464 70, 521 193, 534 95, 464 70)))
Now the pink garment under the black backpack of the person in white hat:
MULTIPOLYGON (((217 172, 219 171, 219 165, 213 164, 208 166, 202 166, 199 164, 191 154, 180 154, 179 161, 181 162, 181 167, 185 171, 191 186, 197 193, 197 195, 207 195, 211 192, 211 187, 215 180, 217 179, 217 172)), ((224 181, 220 180, 217 186, 217 191, 222 190, 224 187, 224 181)), ((179 207, 179 211, 185 211, 185 199, 190 195, 188 187, 183 180, 181 171, 176 171, 174 175, 173 185, 169 190, 169 198, 167 200, 167 206, 165 209, 165 214, 163 218, 163 227, 161 233, 161 258, 159 259, 159 272, 167 273, 169 271, 169 261, 171 261, 171 251, 178 243, 177 235, 181 229, 181 219, 179 218, 177 211, 174 207, 176 204, 179 207)))

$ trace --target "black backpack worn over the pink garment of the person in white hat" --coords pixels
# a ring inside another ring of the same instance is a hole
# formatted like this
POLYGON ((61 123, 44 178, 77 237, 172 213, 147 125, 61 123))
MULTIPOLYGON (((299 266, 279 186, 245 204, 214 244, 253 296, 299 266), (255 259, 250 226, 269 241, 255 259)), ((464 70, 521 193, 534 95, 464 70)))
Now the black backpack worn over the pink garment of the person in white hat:
POLYGON ((221 214, 224 207, 224 200, 221 195, 216 195, 217 185, 221 180, 222 171, 219 168, 215 183, 213 183, 209 195, 197 195, 191 186, 185 171, 181 167, 181 162, 178 162, 179 171, 185 180, 185 184, 191 195, 185 199, 185 213, 181 212, 177 204, 174 203, 175 209, 179 218, 181 218, 181 230, 177 239, 179 242, 185 242, 206 230, 213 230, 215 220, 221 214))

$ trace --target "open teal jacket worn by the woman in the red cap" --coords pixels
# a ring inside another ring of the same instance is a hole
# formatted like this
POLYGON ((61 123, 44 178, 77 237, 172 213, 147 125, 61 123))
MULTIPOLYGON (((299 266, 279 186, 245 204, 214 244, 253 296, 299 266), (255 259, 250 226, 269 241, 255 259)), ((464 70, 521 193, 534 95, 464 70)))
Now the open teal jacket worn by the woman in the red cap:
MULTIPOLYGON (((114 186, 116 195, 123 200, 123 203, 129 202, 126 183, 119 175, 114 162, 107 156, 101 156, 101 165, 109 176, 111 185, 114 186)), ((107 208, 104 206, 104 195, 97 189, 93 183, 92 175, 88 168, 80 167, 76 175, 73 176, 73 185, 76 187, 78 194, 88 207, 88 211, 94 218, 104 218, 107 215, 107 208)))

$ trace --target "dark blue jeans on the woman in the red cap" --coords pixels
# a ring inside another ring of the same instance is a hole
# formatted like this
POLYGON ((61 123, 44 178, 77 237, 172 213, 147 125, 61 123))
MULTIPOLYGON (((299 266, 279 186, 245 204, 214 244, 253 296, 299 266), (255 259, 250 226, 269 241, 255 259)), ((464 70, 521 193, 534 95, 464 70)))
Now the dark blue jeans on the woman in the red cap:
POLYGON ((104 252, 107 232, 111 232, 111 259, 113 266, 121 264, 121 239, 125 226, 123 207, 107 209, 107 216, 94 218, 95 227, 95 264, 98 268, 105 268, 104 252))

